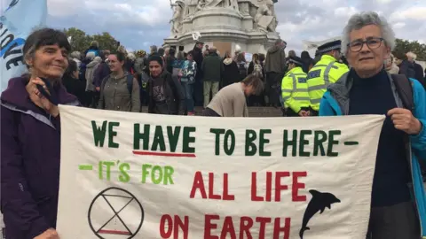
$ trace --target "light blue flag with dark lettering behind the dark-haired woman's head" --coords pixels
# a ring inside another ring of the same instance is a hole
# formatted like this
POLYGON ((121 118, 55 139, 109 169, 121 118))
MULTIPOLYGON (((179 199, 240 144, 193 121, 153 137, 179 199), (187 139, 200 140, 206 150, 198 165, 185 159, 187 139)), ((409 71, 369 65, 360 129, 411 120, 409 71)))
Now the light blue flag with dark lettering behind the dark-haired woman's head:
POLYGON ((28 35, 44 27, 47 19, 47 0, 12 0, 0 17, 0 87, 27 71, 22 47, 28 35))

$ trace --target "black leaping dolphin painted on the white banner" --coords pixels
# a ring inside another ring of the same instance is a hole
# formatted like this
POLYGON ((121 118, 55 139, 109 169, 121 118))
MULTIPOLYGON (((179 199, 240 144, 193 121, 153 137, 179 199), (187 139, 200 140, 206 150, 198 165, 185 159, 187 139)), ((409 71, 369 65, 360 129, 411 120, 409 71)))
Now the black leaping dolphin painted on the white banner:
POLYGON ((340 203, 340 200, 331 193, 321 193, 317 190, 309 190, 312 194, 311 201, 309 202, 306 210, 304 211, 304 220, 302 221, 302 228, 299 231, 300 239, 304 239, 304 231, 309 230, 309 220, 312 219, 313 215, 317 212, 321 214, 324 212, 326 207, 331 209, 331 204, 340 203))

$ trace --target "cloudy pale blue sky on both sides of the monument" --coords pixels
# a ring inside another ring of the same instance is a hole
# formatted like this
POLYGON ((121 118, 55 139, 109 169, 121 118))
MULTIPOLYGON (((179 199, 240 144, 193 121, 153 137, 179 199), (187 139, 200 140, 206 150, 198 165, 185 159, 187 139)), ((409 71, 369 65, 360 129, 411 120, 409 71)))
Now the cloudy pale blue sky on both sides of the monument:
MULTIPOLYGON (((11 1, 0 2, 4 8, 11 1)), ((424 0, 279 0, 277 31, 288 50, 300 52, 304 40, 341 35, 350 16, 361 11, 385 16, 398 38, 426 42, 424 0)), ((109 32, 128 50, 148 50, 170 35, 170 0, 48 0, 48 12, 49 27, 109 32)))

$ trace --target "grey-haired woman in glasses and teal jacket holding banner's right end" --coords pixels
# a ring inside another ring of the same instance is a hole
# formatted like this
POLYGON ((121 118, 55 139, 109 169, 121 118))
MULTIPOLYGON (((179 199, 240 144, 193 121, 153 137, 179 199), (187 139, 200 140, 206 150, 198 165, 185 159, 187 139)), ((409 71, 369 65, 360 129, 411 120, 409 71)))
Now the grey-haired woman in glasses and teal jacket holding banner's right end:
POLYGON ((319 115, 386 115, 367 238, 418 239, 426 236, 426 197, 418 162, 426 159, 426 93, 419 81, 386 72, 383 62, 394 47, 395 34, 386 19, 375 12, 353 15, 342 44, 351 71, 328 87, 319 115), (404 109, 397 94, 401 79, 413 88, 413 109, 404 109))

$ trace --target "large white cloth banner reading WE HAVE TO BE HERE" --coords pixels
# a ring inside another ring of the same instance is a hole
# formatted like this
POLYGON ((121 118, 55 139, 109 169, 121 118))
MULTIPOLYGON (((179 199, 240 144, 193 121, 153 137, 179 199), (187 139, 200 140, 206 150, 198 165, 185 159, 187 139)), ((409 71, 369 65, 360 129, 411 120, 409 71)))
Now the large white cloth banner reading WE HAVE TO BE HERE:
POLYGON ((59 109, 61 239, 365 238, 384 116, 59 109))

